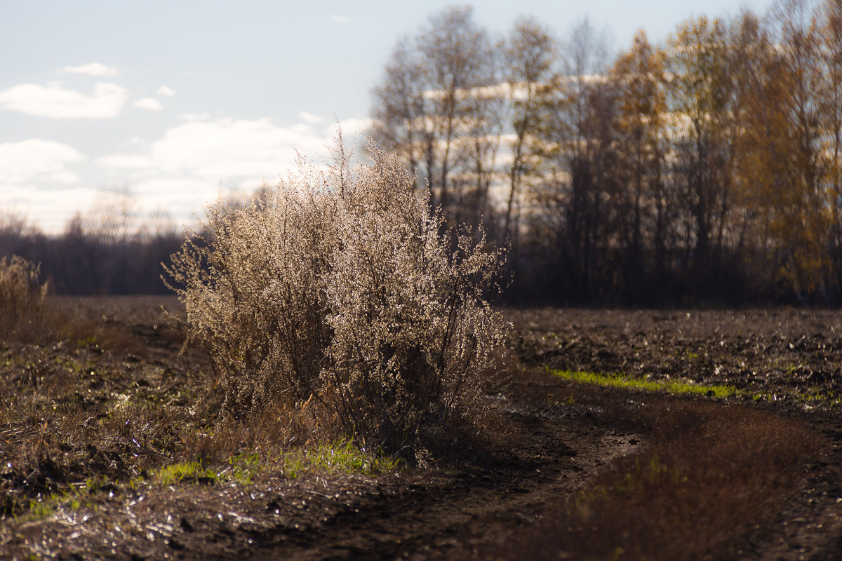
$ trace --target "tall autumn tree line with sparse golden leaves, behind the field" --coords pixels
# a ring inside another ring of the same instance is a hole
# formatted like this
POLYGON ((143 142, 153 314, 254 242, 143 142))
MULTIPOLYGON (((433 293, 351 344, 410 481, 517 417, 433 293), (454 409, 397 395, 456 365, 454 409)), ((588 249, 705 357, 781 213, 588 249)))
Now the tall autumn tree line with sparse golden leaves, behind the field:
POLYGON ((447 8, 396 45, 370 135, 509 244, 512 299, 839 304, 842 3, 606 45, 447 8))

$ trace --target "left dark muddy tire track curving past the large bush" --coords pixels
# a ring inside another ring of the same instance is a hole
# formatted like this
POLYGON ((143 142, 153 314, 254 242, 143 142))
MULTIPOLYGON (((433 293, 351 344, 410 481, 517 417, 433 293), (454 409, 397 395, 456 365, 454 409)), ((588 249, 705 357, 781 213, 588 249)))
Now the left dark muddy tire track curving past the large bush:
POLYGON ((512 458, 365 495, 318 527, 263 532, 242 558, 450 558, 534 523, 639 440, 559 406, 508 409, 524 431, 512 458))

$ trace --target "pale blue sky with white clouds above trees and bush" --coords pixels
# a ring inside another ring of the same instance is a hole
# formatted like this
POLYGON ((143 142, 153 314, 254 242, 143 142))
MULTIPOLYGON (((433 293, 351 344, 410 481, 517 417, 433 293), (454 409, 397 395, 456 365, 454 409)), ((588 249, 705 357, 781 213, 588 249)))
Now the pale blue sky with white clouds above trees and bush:
MULTIPOLYGON (((494 0, 503 35, 531 16, 559 37, 584 18, 615 50, 661 42, 691 16, 763 14, 772 0, 494 0)), ((296 151, 328 153, 368 124, 397 40, 452 2, 0 0, 0 218, 59 234, 133 193, 140 216, 192 224, 220 195, 277 183, 296 151)))

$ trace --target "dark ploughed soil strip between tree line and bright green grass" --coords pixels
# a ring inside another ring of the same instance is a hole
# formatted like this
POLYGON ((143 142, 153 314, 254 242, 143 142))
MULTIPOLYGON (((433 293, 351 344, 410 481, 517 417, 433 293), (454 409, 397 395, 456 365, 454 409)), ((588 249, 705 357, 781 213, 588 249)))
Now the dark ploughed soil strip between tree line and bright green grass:
POLYGON ((842 392, 842 313, 805 310, 518 310, 527 364, 729 384, 770 401, 842 392))

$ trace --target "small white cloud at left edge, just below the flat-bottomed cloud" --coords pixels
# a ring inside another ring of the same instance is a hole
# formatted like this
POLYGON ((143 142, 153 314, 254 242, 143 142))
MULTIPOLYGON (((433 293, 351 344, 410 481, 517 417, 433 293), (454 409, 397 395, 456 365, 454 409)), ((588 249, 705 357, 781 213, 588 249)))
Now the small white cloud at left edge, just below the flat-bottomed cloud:
POLYGON ((31 139, 0 144, 0 183, 77 183, 68 164, 85 156, 72 146, 51 140, 31 139))

